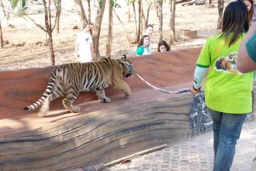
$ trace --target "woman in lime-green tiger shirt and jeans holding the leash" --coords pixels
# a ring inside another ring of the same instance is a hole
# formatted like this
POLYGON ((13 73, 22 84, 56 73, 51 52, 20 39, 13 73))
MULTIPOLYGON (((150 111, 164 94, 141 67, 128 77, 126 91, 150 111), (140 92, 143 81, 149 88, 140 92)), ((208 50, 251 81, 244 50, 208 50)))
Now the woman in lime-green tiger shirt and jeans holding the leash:
POLYGON ((242 124, 252 112, 253 72, 237 70, 238 48, 249 28, 248 11, 241 0, 230 2, 223 15, 222 32, 206 40, 196 62, 191 93, 204 83, 205 104, 212 118, 214 134, 214 171, 229 171, 242 124))

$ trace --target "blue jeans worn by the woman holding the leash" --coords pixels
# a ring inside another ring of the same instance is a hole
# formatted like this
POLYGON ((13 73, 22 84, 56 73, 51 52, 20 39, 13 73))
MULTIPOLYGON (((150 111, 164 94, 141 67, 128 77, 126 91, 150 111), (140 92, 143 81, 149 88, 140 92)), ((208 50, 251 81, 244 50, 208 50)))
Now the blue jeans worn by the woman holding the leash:
POLYGON ((247 114, 230 114, 208 108, 212 118, 214 136, 214 171, 229 171, 232 165, 236 140, 239 139, 247 114))

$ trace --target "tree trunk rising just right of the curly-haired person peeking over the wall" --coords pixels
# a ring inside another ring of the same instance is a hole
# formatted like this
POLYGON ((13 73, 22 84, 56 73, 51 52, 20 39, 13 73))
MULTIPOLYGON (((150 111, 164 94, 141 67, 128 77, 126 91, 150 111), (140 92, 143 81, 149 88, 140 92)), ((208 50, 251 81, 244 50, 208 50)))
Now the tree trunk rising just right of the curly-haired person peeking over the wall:
POLYGON ((175 38, 175 10, 176 0, 170 0, 170 43, 176 42, 175 38))

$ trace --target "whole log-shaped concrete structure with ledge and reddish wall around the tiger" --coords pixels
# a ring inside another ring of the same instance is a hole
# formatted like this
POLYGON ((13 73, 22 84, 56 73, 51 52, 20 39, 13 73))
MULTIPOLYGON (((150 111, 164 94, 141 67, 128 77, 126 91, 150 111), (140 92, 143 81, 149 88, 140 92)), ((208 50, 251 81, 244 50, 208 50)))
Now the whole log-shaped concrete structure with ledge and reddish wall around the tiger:
MULTIPOLYGON (((134 57, 134 69, 148 82, 168 91, 192 85, 201 48, 134 57)), ((129 57, 128 57, 129 58, 129 57)), ((54 66, 0 72, 0 170, 62 170, 112 161, 191 134, 191 93, 166 94, 134 76, 124 98, 110 88, 110 103, 94 92, 80 93, 80 113, 69 113, 61 100, 51 102, 44 118, 22 107, 38 99, 54 66)))

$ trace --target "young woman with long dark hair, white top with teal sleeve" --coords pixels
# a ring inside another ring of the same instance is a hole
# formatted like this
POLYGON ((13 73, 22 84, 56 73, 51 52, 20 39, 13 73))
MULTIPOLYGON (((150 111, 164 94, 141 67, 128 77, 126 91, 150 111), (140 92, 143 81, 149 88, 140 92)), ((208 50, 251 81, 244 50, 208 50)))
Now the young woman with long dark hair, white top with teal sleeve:
POLYGON ((148 35, 143 35, 140 38, 140 42, 138 44, 138 49, 136 51, 136 56, 151 54, 151 52, 148 48, 149 43, 150 43, 149 36, 148 35))

